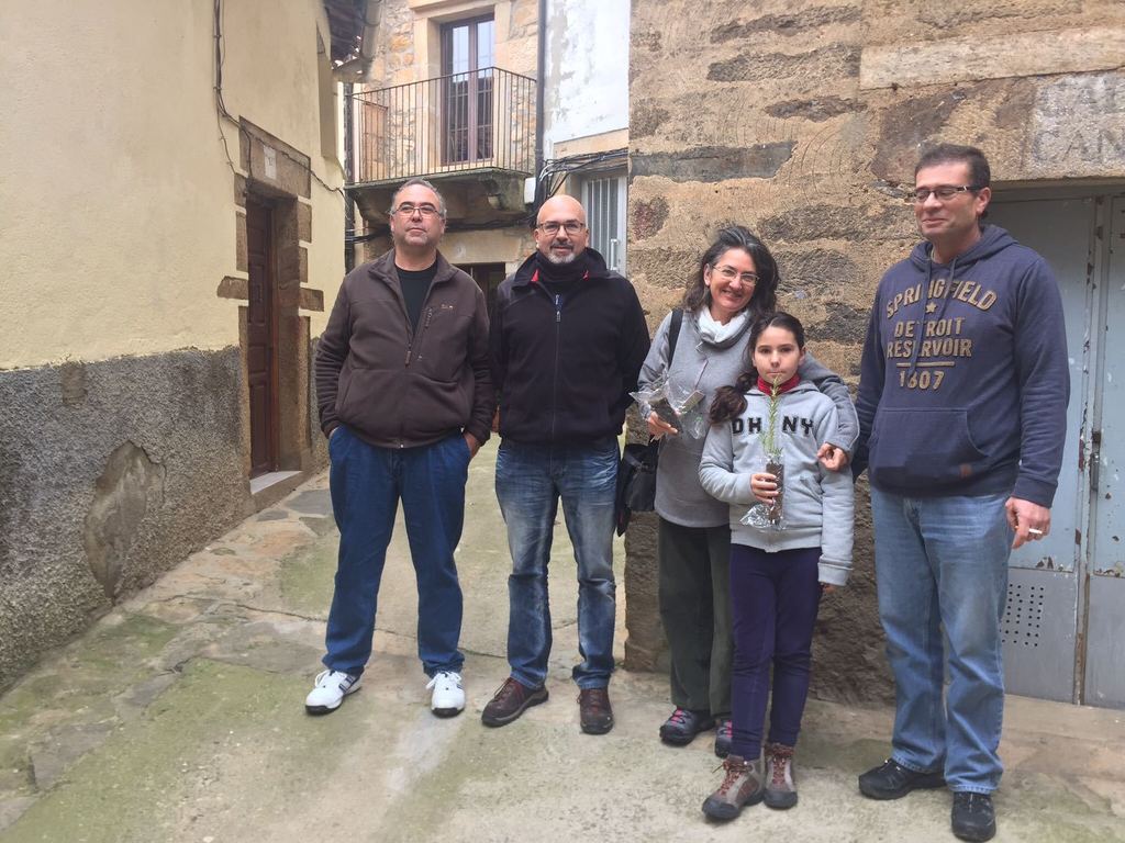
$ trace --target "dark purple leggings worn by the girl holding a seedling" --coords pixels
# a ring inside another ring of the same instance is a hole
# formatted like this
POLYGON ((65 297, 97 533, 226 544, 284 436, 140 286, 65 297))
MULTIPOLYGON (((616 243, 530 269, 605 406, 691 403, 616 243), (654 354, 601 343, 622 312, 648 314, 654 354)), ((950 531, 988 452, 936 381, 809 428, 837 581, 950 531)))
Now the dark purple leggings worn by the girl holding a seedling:
POLYGON ((762 754, 771 661, 770 741, 796 744, 809 695, 812 627, 820 605, 819 560, 819 547, 776 553, 742 544, 730 547, 732 755, 753 761, 762 754))

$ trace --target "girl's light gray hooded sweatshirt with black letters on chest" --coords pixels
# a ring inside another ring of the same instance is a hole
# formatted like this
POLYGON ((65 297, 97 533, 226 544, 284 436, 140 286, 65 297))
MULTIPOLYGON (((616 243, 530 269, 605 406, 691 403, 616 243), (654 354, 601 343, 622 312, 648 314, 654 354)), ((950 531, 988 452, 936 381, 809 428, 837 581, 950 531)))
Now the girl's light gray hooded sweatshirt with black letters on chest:
MULTIPOLYGON (((680 353, 680 350, 676 350, 680 353)), ((746 393, 746 409, 730 422, 712 425, 703 446, 700 482, 708 493, 729 504, 730 541, 774 553, 820 547, 820 581, 847 583, 852 571, 854 520, 850 472, 828 471, 817 450, 836 433, 836 407, 807 381, 782 393, 776 433, 785 460, 785 528, 757 529, 741 523, 757 502, 750 475, 765 470, 762 434, 767 429, 770 397, 756 387, 746 393)))

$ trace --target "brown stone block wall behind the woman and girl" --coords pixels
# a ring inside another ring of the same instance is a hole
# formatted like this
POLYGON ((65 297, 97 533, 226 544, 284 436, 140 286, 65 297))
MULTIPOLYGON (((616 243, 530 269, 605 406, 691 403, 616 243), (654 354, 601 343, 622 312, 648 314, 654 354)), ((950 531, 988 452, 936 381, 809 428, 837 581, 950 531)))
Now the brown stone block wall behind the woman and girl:
MULTIPOLYGON (((630 274, 655 328, 728 223, 778 260, 778 306, 853 387, 882 272, 917 238, 920 147, 981 146, 993 181, 1125 179, 1125 7, 1108 0, 634 3, 630 274), (702 34, 702 35, 701 35, 702 34)), ((824 602, 813 692, 891 694, 866 482, 852 583, 824 602)), ((655 536, 629 536, 628 661, 659 662, 655 536)))

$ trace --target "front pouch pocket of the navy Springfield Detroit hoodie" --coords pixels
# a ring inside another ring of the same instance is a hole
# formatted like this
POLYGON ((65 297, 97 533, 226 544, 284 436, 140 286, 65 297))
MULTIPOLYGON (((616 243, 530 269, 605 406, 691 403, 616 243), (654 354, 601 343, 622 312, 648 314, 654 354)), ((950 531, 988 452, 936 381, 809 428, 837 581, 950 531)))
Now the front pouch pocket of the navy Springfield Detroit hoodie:
POLYGON ((881 409, 871 437, 870 473, 878 487, 908 489, 963 482, 987 459, 961 409, 881 409))

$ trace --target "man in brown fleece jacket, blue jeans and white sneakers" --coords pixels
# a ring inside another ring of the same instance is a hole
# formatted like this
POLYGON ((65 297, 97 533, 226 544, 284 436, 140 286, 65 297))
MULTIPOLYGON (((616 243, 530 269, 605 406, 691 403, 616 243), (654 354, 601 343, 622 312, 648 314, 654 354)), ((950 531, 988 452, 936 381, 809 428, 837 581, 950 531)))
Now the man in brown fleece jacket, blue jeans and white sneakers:
POLYGON ((340 527, 327 670, 305 700, 334 711, 371 655, 379 579, 403 502, 418 589, 418 659, 439 717, 465 708, 458 650, 469 461, 488 438, 495 397, 484 294, 438 251, 446 202, 411 179, 390 208, 394 248, 344 279, 316 354, 321 428, 340 527))

